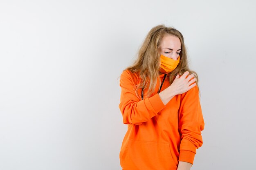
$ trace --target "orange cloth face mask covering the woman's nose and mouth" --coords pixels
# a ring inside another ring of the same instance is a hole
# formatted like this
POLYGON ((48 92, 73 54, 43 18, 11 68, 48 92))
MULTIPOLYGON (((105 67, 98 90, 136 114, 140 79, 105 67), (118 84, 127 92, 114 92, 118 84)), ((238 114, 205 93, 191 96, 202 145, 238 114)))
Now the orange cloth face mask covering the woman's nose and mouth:
POLYGON ((165 57, 164 55, 160 55, 160 58, 161 58, 160 67, 164 69, 164 71, 166 71, 167 73, 170 73, 171 71, 173 71, 180 62, 180 55, 177 60, 173 60, 172 58, 165 57))

